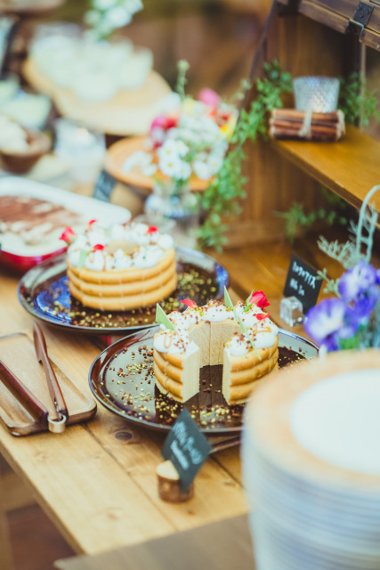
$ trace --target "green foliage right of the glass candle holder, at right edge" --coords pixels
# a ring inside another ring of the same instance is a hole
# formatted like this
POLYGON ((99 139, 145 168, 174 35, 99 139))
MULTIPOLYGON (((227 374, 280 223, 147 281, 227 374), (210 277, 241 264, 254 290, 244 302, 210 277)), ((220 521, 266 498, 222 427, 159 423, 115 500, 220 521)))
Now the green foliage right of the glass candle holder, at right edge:
POLYGON ((378 94, 369 92, 364 77, 354 72, 348 77, 340 77, 339 109, 344 111, 347 123, 367 126, 369 118, 380 121, 380 110, 377 108, 378 94))

